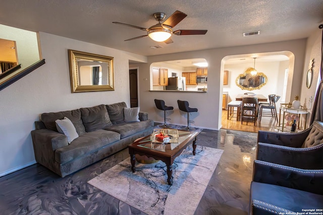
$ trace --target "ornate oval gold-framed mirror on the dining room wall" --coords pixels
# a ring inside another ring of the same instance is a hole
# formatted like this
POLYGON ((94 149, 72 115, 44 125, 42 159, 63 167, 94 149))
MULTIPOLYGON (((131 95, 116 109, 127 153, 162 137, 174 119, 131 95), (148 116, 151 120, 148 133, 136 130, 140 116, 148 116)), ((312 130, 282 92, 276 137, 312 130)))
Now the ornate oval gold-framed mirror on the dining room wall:
POLYGON ((258 90, 262 88, 268 81, 266 75, 263 73, 257 73, 257 75, 252 76, 251 71, 254 68, 248 68, 244 74, 240 74, 236 79, 236 85, 242 90, 258 90))

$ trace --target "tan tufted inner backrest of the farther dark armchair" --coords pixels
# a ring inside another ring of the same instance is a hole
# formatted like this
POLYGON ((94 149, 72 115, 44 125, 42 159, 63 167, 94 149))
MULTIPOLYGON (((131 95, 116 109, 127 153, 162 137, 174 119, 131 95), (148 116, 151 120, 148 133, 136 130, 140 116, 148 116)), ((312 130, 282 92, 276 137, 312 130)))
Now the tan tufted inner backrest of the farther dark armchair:
POLYGON ((315 147, 322 143, 323 143, 323 127, 317 121, 314 121, 313 126, 302 145, 302 148, 315 147))

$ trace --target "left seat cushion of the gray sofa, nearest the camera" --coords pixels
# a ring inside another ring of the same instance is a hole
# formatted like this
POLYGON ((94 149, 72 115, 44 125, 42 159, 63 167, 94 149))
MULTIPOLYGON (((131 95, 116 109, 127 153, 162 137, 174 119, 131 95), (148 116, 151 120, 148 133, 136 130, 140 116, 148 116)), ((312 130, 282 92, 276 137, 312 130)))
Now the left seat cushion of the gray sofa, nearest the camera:
POLYGON ((95 130, 74 139, 70 145, 55 151, 55 160, 66 163, 120 140, 120 134, 109 130, 95 130))

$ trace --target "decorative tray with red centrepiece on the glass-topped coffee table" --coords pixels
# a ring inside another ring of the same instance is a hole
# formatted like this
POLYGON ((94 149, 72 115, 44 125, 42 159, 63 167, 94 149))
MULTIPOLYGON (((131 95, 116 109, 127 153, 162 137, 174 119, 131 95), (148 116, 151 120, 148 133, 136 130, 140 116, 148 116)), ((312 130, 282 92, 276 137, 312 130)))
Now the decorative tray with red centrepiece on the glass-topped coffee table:
POLYGON ((151 141, 160 144, 173 144, 178 142, 178 138, 177 129, 154 129, 151 135, 151 141))

